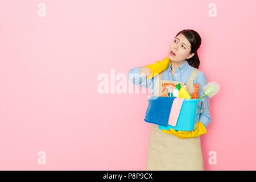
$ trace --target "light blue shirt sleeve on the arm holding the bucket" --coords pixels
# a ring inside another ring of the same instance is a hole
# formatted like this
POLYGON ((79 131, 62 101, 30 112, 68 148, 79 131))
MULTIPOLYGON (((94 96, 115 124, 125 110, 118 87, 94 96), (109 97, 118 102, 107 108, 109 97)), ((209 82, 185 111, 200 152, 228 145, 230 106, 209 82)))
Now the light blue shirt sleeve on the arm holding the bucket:
MULTIPOLYGON (((205 85, 207 85, 207 78, 206 78, 205 74, 203 72, 199 71, 194 83, 200 84, 200 86, 199 86, 199 97, 200 97, 201 95, 204 94, 203 87, 205 85)), ((209 125, 209 123, 212 121, 212 119, 210 118, 209 97, 204 96, 203 98, 204 98, 204 103, 205 103, 205 110, 202 113, 200 113, 199 121, 201 123, 203 123, 205 127, 207 127, 209 125)), ((203 103, 202 103, 201 108, 203 108, 203 103)))

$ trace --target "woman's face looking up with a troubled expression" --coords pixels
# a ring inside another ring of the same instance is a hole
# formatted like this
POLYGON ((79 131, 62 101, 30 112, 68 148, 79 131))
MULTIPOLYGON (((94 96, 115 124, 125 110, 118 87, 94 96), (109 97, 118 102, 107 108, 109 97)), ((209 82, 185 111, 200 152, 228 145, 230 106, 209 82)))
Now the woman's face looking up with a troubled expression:
POLYGON ((176 62, 176 63, 182 63, 185 61, 185 59, 191 58, 195 53, 190 54, 191 51, 191 44, 185 38, 183 34, 179 34, 176 36, 176 38, 171 42, 168 57, 170 60, 176 62), (175 56, 170 53, 173 51, 175 53, 175 56))

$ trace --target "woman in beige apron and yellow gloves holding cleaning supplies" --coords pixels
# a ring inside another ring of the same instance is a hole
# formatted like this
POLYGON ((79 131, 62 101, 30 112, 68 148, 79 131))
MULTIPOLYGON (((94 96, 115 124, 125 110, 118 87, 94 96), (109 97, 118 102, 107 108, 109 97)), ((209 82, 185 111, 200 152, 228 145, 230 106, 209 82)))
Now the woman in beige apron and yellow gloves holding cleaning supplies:
MULTIPOLYGON (((207 78, 199 71, 197 50, 201 38, 194 30, 180 31, 171 42, 168 56, 162 61, 144 67, 135 67, 129 72, 129 80, 135 85, 150 88, 155 96, 161 96, 163 82, 172 84, 186 82, 192 96, 193 84, 200 84, 199 96, 207 78), (137 75, 137 76, 134 76, 137 75)), ((193 131, 160 130, 151 124, 147 146, 147 170, 204 170, 200 135, 207 133, 211 118, 209 98, 204 97, 205 110, 200 114, 193 131)))

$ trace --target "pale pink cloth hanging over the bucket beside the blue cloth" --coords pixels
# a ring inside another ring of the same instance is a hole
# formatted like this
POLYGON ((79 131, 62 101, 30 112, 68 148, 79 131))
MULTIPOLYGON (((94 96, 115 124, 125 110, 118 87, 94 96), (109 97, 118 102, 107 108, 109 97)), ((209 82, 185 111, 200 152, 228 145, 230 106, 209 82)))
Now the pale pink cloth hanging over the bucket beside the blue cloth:
POLYGON ((172 126, 176 126, 177 119, 180 115, 180 109, 183 104, 184 98, 175 98, 172 103, 171 113, 169 116, 168 124, 172 126))

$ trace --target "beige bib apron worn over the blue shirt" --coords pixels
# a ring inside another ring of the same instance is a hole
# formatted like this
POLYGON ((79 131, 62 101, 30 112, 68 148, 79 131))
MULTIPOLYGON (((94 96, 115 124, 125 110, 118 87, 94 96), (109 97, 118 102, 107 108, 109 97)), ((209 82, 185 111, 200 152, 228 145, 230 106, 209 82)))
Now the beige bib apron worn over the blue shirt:
MULTIPOLYGON (((195 68, 187 82, 187 90, 191 96, 197 72, 199 69, 195 68)), ((184 82, 162 80, 162 75, 163 72, 156 75, 155 96, 167 93, 167 89, 162 92, 163 83, 184 85, 184 82)), ((181 139, 176 135, 164 133, 158 125, 151 123, 146 170, 204 170, 200 136, 181 139)))

